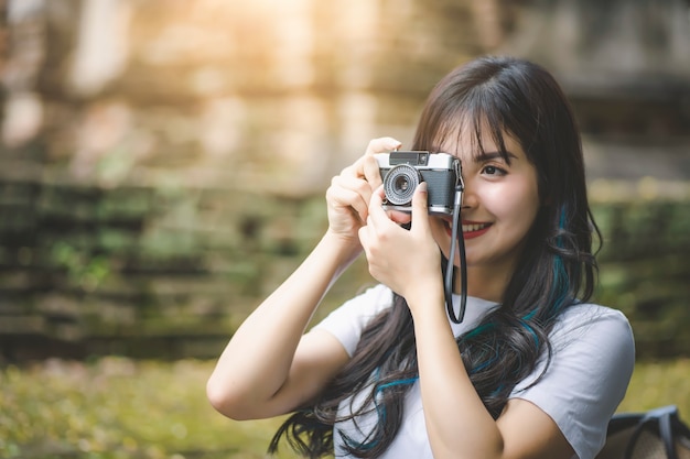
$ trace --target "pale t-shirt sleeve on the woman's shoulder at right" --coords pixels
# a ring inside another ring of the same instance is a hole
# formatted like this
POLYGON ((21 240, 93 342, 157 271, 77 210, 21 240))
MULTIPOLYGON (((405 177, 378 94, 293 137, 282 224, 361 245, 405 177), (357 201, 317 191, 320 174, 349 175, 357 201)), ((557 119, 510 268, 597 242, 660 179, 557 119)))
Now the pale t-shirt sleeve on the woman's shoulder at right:
POLYGON ((594 458, 608 420, 625 396, 635 365, 635 342, 618 310, 578 305, 550 335, 552 356, 520 382, 511 397, 539 406, 559 426, 580 459, 594 458))

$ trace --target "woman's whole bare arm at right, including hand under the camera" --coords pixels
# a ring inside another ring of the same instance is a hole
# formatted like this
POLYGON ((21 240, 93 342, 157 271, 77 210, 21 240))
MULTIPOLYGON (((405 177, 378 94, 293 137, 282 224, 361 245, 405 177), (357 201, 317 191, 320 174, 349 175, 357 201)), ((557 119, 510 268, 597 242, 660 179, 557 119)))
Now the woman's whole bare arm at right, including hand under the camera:
POLYGON ((495 420, 484 407, 457 351, 444 309, 439 248, 430 234, 425 185, 405 231, 371 198, 360 240, 374 277, 402 295, 414 323, 424 419, 436 459, 568 459, 573 450, 557 424, 530 402, 511 400, 495 420))

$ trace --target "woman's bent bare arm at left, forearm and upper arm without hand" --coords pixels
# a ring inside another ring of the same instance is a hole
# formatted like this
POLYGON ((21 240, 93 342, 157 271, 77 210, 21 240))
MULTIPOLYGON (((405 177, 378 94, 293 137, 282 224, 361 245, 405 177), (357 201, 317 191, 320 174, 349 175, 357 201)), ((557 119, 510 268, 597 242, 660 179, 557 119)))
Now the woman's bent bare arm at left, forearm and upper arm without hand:
POLYGON ((330 335, 301 337, 322 296, 348 265, 348 258, 337 238, 326 234, 244 321, 207 384, 216 409, 233 418, 287 413, 314 396, 347 361, 347 353, 330 335))

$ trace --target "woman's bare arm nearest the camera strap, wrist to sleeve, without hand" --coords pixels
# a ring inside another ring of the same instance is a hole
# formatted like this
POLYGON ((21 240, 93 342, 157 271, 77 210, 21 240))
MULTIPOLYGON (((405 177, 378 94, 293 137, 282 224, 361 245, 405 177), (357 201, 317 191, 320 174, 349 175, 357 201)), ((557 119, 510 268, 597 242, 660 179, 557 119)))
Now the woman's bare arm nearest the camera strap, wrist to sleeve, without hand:
POLYGON ((433 303, 438 307, 430 307, 429 291, 423 297, 410 295, 411 308, 424 298, 423 314, 414 316, 414 332, 424 417, 434 458, 572 457, 573 450, 557 424, 530 402, 508 401, 494 420, 457 352, 443 313, 442 289, 439 287, 435 293, 433 303))

